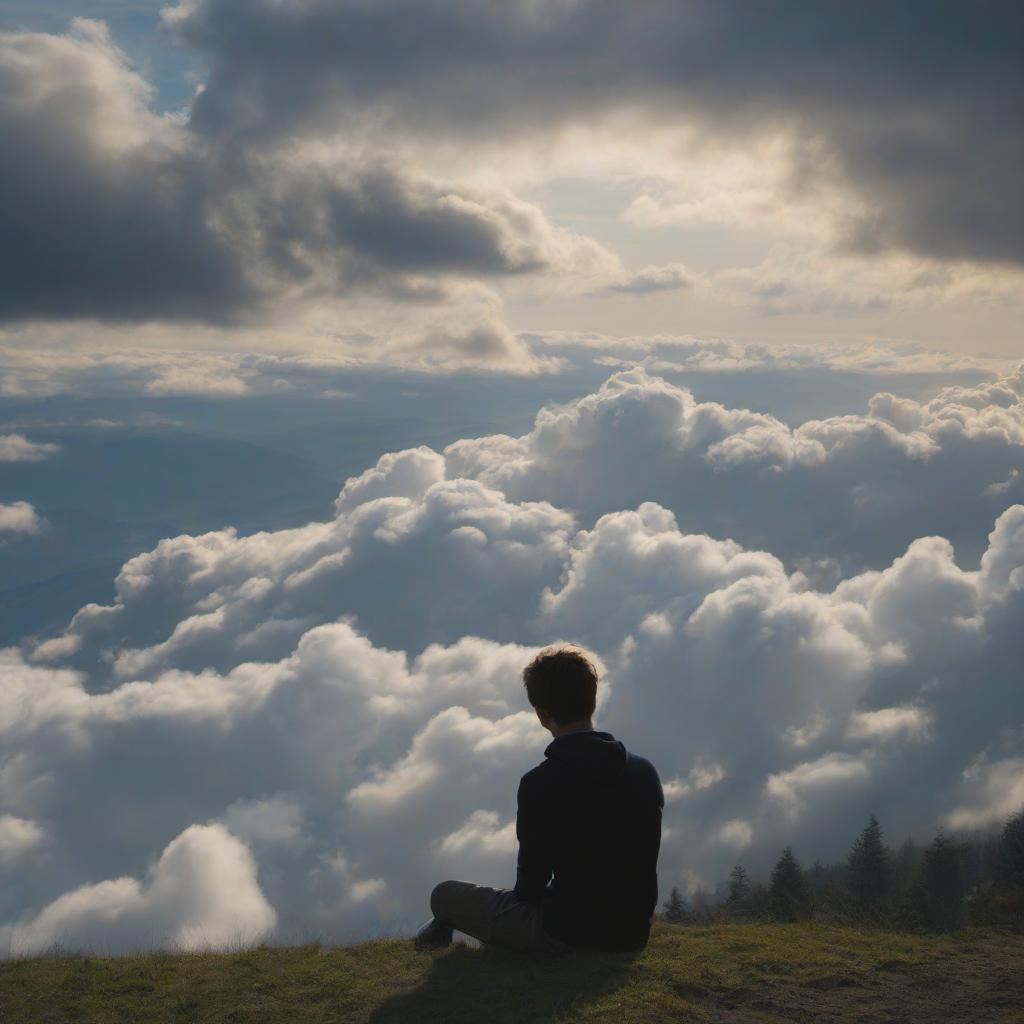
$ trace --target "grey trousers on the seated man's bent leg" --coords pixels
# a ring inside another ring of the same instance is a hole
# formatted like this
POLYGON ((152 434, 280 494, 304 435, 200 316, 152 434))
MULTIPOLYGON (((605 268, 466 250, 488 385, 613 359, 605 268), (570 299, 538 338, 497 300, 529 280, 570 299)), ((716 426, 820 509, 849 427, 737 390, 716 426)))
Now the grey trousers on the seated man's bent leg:
POLYGON ((544 931, 539 902, 519 899, 511 889, 441 882, 430 894, 430 910, 457 932, 506 949, 538 953, 573 950, 544 931))

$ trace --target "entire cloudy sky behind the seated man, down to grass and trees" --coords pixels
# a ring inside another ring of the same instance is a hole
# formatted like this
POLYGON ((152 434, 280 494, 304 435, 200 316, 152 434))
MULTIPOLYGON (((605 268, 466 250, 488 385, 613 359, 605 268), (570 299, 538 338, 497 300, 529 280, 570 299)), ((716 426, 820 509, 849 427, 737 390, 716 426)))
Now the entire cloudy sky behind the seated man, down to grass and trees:
POLYGON ((1022 23, 0 0, 0 953, 510 885, 560 641, 666 892, 1024 804, 1022 23))

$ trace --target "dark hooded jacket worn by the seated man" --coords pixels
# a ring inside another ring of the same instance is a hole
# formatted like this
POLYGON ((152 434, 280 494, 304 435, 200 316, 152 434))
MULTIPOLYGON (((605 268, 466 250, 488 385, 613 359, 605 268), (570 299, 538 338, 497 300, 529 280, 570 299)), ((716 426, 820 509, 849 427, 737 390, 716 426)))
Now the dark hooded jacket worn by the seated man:
POLYGON ((657 905, 665 795, 610 732, 553 739, 519 782, 515 892, 545 931, 584 949, 637 949, 657 905))

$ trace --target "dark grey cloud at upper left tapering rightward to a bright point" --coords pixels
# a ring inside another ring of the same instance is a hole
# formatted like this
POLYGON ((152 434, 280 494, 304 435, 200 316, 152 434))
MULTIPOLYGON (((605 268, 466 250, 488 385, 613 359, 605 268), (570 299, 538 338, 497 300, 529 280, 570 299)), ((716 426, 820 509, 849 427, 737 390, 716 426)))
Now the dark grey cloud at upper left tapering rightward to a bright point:
POLYGON ((0 319, 253 318, 459 276, 611 257, 500 189, 420 181, 381 157, 317 170, 156 116, 102 26, 0 35, 0 319))

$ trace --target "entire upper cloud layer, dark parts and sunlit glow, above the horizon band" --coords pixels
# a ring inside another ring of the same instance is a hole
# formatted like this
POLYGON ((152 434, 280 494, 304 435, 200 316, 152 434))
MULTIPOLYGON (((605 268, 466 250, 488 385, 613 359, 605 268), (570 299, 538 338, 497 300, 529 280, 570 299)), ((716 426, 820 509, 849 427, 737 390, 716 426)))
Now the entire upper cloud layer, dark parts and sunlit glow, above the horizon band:
POLYGON ((203 79, 170 113, 103 23, 0 33, 0 323, 370 325, 364 357, 536 371, 503 302, 1017 302, 1009 2, 186 0, 163 26, 203 79), (565 181, 593 212, 523 198, 565 181), (710 247, 654 263, 625 226, 694 222, 710 247))

